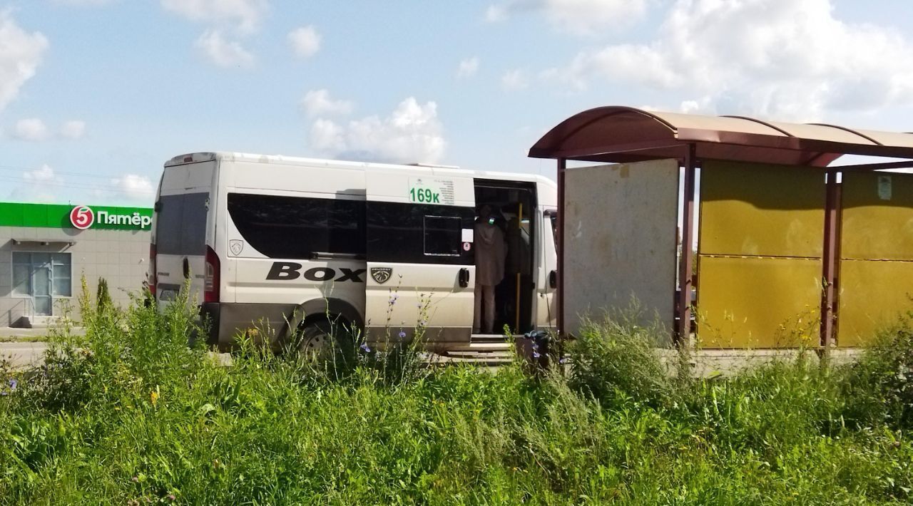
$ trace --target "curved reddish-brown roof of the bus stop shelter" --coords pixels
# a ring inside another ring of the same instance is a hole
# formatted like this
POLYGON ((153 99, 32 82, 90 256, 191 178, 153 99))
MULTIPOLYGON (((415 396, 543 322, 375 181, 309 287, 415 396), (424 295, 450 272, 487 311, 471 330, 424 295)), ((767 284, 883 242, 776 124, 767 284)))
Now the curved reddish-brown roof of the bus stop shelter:
POLYGON ((824 167, 845 154, 913 159, 913 133, 620 106, 592 108, 561 121, 530 148, 530 157, 601 162, 681 159, 688 144, 695 145, 701 160, 824 167))

